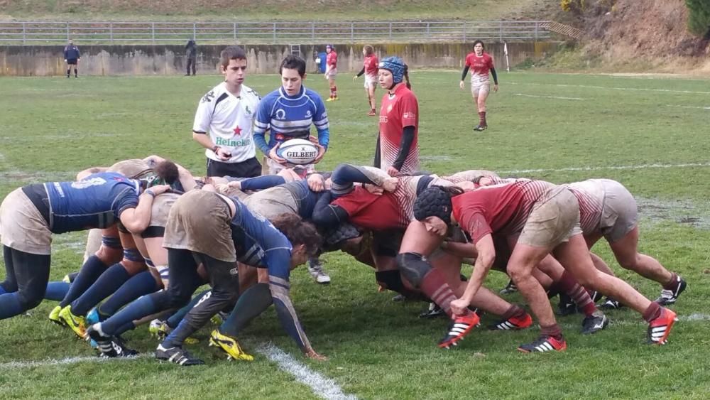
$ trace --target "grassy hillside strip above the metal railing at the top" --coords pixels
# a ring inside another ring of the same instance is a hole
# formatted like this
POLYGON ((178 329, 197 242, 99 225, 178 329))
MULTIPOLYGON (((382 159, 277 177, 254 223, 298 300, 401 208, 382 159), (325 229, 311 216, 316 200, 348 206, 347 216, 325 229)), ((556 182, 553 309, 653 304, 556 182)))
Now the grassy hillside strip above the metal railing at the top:
POLYGON ((0 0, 0 21, 370 21, 534 18, 556 0, 0 0))

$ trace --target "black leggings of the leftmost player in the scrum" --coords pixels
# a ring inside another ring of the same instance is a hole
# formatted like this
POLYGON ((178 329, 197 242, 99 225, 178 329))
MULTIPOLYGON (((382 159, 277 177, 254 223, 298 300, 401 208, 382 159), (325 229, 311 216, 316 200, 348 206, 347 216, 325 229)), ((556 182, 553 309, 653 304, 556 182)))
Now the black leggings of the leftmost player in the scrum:
POLYGON ((39 305, 49 281, 51 256, 21 252, 3 245, 5 281, 0 286, 6 293, 17 292, 22 312, 39 305))

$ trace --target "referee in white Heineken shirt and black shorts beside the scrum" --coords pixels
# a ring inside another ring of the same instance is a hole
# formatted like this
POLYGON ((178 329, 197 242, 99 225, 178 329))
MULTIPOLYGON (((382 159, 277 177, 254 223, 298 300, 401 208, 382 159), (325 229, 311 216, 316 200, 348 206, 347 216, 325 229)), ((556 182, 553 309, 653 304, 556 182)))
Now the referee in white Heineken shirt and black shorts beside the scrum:
POLYGON ((207 92, 195 113, 192 139, 207 150, 207 176, 252 178, 261 175, 251 136, 253 115, 260 97, 243 85, 246 53, 229 46, 220 54, 224 82, 207 92))

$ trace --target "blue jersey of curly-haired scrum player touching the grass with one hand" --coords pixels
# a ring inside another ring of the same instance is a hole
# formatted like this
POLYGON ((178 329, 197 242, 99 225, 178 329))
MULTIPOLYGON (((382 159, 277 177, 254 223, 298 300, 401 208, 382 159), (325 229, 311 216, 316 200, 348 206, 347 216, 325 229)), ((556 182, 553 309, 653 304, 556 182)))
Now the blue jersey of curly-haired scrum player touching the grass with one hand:
POLYGON ((268 269, 268 274, 288 280, 291 242, 266 218, 231 198, 236 212, 231 220, 232 239, 239 262, 268 269))

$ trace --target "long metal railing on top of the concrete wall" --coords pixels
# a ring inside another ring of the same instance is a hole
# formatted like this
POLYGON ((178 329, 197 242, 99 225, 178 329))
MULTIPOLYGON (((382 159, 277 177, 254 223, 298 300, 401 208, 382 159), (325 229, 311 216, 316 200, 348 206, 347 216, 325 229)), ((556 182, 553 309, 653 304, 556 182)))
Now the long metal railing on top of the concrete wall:
POLYGON ((0 43, 14 45, 198 43, 427 43, 546 40, 548 21, 383 22, 0 22, 0 43))

